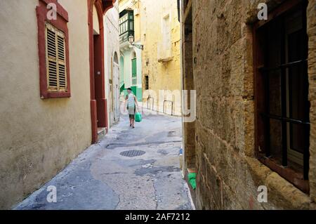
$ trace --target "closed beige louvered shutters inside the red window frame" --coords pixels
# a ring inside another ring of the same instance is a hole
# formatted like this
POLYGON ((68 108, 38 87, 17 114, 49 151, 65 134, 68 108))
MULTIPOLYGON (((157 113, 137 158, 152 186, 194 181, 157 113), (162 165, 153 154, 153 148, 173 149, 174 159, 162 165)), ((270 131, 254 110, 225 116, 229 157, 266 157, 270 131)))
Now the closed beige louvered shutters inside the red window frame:
POLYGON ((65 34, 46 24, 46 69, 48 91, 67 91, 65 34))

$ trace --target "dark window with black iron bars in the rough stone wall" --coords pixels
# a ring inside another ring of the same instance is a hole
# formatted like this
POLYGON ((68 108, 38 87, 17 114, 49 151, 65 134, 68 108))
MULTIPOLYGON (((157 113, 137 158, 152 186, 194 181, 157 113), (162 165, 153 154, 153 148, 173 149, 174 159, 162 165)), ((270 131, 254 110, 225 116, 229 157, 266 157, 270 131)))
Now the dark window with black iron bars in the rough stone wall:
POLYGON ((255 26, 256 147, 264 164, 308 192, 307 1, 295 2, 255 26))

